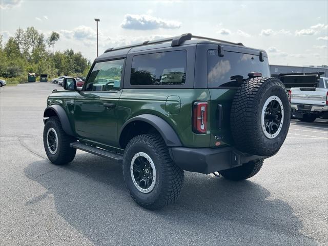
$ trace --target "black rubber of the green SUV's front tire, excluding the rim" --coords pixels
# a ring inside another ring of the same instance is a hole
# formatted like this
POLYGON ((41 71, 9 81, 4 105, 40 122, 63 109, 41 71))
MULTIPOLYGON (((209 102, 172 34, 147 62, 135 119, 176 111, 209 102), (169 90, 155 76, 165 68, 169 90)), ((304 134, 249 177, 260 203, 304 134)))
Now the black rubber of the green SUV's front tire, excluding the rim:
POLYGON ((75 141, 76 139, 74 137, 67 135, 64 132, 63 127, 61 127, 60 120, 57 116, 53 116, 47 119, 43 131, 43 144, 46 154, 52 163, 55 165, 65 165, 71 162, 75 157, 76 149, 71 148, 70 143, 75 141), (50 152, 47 145, 47 132, 50 128, 53 128, 58 136, 58 147, 55 154, 50 152))

